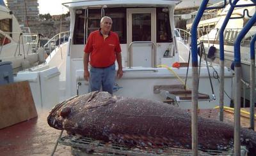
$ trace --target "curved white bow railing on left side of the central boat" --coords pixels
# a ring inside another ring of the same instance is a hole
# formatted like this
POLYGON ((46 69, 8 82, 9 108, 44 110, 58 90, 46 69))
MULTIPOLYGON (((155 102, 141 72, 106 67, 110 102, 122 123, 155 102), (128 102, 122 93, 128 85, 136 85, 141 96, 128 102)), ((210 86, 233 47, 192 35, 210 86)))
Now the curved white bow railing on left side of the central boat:
POLYGON ((50 55, 52 50, 54 50, 56 47, 60 46, 63 43, 68 42, 69 38, 69 31, 64 31, 56 34, 53 36, 47 43, 44 45, 44 51, 47 55, 50 55))

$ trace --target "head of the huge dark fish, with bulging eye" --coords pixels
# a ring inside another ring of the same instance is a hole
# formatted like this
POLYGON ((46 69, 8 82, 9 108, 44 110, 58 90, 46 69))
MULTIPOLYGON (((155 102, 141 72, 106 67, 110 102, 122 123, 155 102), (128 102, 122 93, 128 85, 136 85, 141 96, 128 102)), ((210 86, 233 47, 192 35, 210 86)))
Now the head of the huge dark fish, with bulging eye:
POLYGON ((81 96, 71 97, 57 104, 52 108, 47 117, 47 122, 55 129, 65 129, 73 127, 77 120, 81 119, 79 115, 86 117, 86 112, 115 103, 115 98, 108 92, 90 92, 81 96), (83 113, 80 113, 83 112, 83 113))

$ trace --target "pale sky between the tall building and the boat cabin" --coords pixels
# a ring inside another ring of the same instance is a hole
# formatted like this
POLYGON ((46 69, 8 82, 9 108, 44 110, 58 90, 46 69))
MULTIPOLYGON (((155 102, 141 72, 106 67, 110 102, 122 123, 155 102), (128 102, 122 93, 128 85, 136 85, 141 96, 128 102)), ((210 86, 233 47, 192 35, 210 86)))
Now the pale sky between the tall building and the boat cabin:
MULTIPOLYGON (((61 4, 67 1, 68 0, 38 0, 39 13, 50 13, 51 15, 61 15, 62 13, 67 13, 68 9, 61 4)), ((6 4, 6 0, 4 0, 4 3, 6 4)))

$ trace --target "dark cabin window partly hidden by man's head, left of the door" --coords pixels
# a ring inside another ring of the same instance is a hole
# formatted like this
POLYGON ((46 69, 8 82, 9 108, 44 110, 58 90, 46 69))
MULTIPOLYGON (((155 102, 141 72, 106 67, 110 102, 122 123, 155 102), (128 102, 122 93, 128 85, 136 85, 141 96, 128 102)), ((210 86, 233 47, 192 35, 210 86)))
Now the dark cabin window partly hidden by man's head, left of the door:
POLYGON ((105 8, 105 16, 113 20, 111 30, 119 36, 121 44, 126 43, 126 8, 105 8))

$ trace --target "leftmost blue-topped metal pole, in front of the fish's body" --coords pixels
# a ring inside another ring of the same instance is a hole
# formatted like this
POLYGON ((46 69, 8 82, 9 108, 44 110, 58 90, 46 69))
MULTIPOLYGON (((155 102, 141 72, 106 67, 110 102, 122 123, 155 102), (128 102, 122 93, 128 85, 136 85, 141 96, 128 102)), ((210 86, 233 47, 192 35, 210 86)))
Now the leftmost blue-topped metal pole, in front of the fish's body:
POLYGON ((197 110, 198 110, 198 60, 197 60, 197 36, 196 29, 204 14, 204 10, 209 0, 202 1, 198 12, 196 13, 195 20, 191 27, 191 52, 192 52, 192 122, 191 122, 191 133, 192 133, 192 151, 193 155, 198 155, 198 123, 197 123, 197 110))

